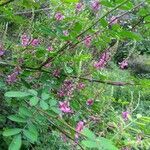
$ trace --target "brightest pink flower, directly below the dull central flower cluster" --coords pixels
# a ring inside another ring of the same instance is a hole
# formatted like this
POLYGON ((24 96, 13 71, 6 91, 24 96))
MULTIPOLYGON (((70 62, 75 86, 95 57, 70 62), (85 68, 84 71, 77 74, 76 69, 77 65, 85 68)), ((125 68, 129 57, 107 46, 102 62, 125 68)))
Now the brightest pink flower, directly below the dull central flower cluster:
POLYGON ((72 110, 69 106, 69 101, 59 102, 59 109, 63 113, 71 113, 72 112, 72 110))

